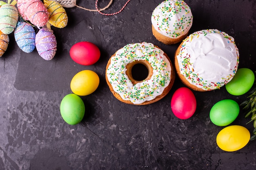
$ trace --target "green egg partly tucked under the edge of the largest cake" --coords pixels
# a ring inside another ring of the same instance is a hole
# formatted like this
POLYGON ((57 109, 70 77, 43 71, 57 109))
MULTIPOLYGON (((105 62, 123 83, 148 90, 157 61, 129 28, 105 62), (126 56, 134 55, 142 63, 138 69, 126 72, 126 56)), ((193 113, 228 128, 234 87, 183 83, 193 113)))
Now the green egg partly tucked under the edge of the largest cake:
POLYGON ((227 92, 240 96, 249 91, 254 84, 254 72, 249 68, 239 68, 232 80, 226 84, 227 92))

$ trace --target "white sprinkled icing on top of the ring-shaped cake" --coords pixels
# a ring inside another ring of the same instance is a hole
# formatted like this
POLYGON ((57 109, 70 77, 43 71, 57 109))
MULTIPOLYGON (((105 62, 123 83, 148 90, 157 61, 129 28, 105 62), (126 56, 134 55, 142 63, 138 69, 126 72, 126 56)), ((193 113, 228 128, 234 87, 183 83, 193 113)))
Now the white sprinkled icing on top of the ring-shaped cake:
POLYGON ((115 57, 111 57, 106 74, 114 91, 122 99, 141 104, 163 93, 170 83, 171 65, 164 52, 153 44, 135 43, 124 46, 116 52, 115 57), (126 65, 135 60, 148 61, 153 68, 153 75, 150 80, 133 85, 126 75, 126 65))

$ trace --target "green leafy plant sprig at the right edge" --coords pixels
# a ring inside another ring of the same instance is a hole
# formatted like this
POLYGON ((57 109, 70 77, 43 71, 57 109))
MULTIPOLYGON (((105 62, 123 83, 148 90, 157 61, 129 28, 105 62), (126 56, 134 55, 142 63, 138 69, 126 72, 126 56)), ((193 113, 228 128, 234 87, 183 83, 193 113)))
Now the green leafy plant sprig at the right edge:
MULTIPOLYGON (((255 85, 256 83, 254 83, 255 85)), ((253 135, 251 136, 250 140, 256 139, 256 87, 249 92, 249 100, 245 100, 240 104, 245 110, 245 118, 248 118, 251 115, 251 120, 246 124, 253 122, 254 130, 252 131, 253 135)))

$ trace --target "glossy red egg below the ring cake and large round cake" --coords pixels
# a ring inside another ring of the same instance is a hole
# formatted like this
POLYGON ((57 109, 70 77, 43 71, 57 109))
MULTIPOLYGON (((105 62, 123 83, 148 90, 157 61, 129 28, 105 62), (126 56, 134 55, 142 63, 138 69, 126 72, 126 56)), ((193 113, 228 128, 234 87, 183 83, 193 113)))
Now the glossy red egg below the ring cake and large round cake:
POLYGON ((193 92, 187 87, 177 89, 171 98, 173 114, 180 119, 188 119, 195 113, 196 99, 193 92))

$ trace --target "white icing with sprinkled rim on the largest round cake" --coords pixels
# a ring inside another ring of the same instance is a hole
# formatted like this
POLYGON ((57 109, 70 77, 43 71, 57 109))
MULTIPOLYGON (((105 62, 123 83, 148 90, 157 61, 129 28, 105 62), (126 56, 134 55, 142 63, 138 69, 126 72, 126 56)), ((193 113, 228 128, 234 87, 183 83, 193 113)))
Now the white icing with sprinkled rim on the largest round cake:
POLYGON ((189 35, 177 55, 180 73, 204 90, 217 89, 231 81, 238 59, 234 38, 218 30, 202 30, 189 35))

